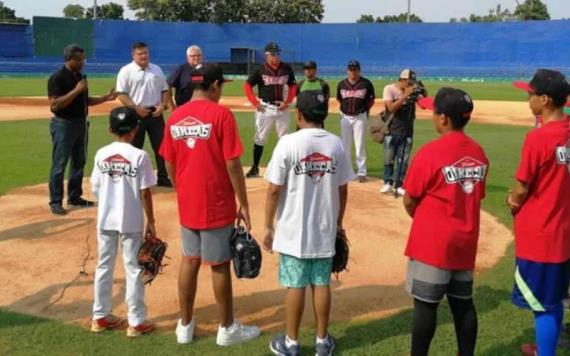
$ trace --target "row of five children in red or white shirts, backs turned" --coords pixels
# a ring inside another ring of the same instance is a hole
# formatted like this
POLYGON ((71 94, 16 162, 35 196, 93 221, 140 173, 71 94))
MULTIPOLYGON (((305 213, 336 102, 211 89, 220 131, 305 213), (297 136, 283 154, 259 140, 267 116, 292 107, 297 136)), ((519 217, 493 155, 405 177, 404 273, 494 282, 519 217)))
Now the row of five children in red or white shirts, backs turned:
MULTIPOLYGON (((240 163, 243 152, 232 113, 218 104, 226 81, 221 69, 198 70, 192 100, 168 120, 161 154, 175 186, 182 225, 179 275, 179 343, 192 341, 192 316, 201 264, 212 268, 220 311, 217 343, 247 341, 259 328, 233 317, 229 238, 236 219, 251 229, 240 163), (199 74, 199 75, 198 75, 199 74), (238 204, 236 205, 236 196, 238 204)), ((507 204, 515 221, 516 272, 512 301, 533 311, 536 345, 525 355, 552 356, 562 326, 562 299, 570 278, 570 125, 563 107, 570 84, 559 72, 539 70, 524 86, 533 114, 543 125, 524 142, 507 204)), ((462 90, 442 88, 419 103, 433 110, 439 138, 416 153, 404 182, 404 207, 413 218, 405 254, 406 290, 414 299, 411 354, 427 355, 436 329, 437 309, 447 296, 457 334, 458 355, 474 354, 477 314, 473 270, 489 160, 464 133, 473 101, 462 90)), ((342 141, 323 128, 328 102, 316 91, 297 99, 299 130, 283 136, 265 173, 269 182, 263 247, 279 253, 279 281, 287 288, 286 333, 270 342, 277 355, 299 355, 299 327, 305 288, 311 287, 316 319, 315 353, 332 355, 328 332, 330 275, 337 229, 343 228, 348 182, 356 178, 342 141)), ((139 119, 129 108, 113 110, 115 143, 97 152, 92 175, 99 199, 99 263, 95 277, 92 331, 115 328, 111 285, 119 241, 127 270, 128 336, 149 332, 144 286, 137 277, 137 246, 143 232, 154 233, 154 185, 148 156, 128 144, 139 119), (147 227, 143 228, 143 211, 147 227)))

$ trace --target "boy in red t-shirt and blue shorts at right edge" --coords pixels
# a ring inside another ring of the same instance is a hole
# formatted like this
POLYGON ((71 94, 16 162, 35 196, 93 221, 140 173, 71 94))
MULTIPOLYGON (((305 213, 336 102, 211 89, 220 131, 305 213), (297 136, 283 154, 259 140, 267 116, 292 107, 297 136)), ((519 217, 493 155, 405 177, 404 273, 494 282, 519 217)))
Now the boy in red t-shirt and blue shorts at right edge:
POLYGON ((527 134, 507 197, 515 220, 512 302, 534 312, 536 345, 523 345, 523 354, 551 356, 570 278, 570 125, 563 111, 570 84, 560 72, 539 69, 517 87, 528 92, 543 125, 527 134))

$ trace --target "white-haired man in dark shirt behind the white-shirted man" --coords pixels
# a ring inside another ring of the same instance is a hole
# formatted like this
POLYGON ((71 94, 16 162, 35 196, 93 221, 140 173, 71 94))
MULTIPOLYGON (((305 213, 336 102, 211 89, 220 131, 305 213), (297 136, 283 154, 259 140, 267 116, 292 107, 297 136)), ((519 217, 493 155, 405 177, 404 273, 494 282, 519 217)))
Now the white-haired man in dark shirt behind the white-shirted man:
POLYGON ((202 50, 196 45, 188 47, 186 50, 187 62, 179 65, 174 72, 168 76, 167 82, 172 98, 172 89, 176 90, 174 95, 176 105, 172 105, 173 109, 177 106, 184 105, 194 93, 194 84, 192 84, 192 74, 202 65, 202 50))

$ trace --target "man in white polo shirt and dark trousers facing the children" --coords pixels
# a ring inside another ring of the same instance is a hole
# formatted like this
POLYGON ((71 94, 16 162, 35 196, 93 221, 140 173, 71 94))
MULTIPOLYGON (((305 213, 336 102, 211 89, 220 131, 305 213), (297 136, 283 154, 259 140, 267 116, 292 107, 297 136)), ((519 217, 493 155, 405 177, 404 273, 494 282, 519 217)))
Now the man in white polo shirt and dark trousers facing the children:
POLYGON ((133 61, 119 71, 116 88, 121 103, 135 108, 142 118, 132 144, 142 149, 145 133, 148 132, 158 170, 157 186, 172 187, 164 159, 158 153, 164 133, 162 114, 170 100, 166 77, 159 66, 150 63, 146 44, 135 42, 132 46, 132 56, 133 61))

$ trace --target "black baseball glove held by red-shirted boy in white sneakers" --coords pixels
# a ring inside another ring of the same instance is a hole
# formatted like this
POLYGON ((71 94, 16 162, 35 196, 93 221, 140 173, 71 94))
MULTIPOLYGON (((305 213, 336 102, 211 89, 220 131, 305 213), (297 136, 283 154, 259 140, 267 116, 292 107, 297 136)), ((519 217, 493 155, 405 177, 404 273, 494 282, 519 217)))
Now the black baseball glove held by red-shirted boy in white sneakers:
POLYGON ((243 226, 234 228, 231 240, 234 271, 238 278, 255 278, 261 270, 261 248, 243 226))

